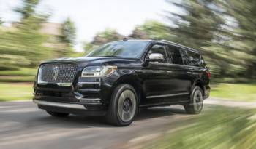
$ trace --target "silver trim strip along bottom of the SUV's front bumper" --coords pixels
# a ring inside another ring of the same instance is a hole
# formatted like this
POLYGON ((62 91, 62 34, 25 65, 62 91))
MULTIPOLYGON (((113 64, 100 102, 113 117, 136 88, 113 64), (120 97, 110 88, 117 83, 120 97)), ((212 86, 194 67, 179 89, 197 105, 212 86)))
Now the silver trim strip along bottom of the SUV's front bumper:
POLYGON ((33 100, 33 102, 38 105, 48 105, 48 106, 59 107, 59 108, 72 108, 72 109, 86 110, 86 108, 83 105, 79 105, 79 104, 48 102, 48 101, 41 101, 41 100, 33 100))

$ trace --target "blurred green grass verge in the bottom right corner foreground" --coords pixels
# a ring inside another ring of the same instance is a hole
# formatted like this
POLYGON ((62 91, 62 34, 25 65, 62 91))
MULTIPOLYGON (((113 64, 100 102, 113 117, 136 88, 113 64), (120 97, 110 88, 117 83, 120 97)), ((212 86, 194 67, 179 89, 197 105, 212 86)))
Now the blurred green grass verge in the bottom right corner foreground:
POLYGON ((217 107, 187 120, 185 124, 185 129, 165 134, 149 142, 145 148, 256 148, 256 110, 217 107))

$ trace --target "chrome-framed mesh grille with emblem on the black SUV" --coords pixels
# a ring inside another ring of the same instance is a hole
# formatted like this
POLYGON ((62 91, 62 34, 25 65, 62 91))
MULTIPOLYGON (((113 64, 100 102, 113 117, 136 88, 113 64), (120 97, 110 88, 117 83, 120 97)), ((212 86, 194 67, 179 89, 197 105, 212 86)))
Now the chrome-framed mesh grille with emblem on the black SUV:
POLYGON ((76 71, 77 66, 72 64, 45 64, 39 68, 38 83, 71 84, 76 71))

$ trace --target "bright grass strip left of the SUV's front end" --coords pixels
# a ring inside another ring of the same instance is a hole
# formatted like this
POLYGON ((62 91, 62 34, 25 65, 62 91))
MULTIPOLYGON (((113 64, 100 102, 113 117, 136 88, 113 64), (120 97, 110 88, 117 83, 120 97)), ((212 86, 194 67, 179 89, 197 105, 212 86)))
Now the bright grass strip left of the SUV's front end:
POLYGON ((32 84, 0 83, 0 101, 31 100, 33 95, 32 84))

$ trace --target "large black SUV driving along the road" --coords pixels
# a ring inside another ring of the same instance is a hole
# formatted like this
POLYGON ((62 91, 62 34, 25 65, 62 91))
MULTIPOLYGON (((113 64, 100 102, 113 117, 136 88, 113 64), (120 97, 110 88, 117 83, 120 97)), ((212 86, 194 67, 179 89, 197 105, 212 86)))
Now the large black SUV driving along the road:
POLYGON ((210 78, 195 49, 170 41, 114 41, 86 57, 42 63, 33 100, 52 116, 105 116, 127 126, 138 108, 184 105, 187 113, 200 113, 210 78))

